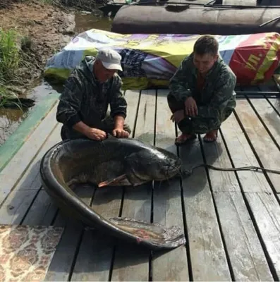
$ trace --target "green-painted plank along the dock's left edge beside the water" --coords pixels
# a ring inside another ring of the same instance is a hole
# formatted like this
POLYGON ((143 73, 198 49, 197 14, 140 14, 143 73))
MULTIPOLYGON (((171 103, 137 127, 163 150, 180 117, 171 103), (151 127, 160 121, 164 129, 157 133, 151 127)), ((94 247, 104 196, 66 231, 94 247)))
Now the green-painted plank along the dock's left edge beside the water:
MULTIPOLYGON (((44 99, 42 99, 37 105, 35 105, 35 107, 30 111, 29 116, 25 118, 23 123, 18 126, 16 131, 8 137, 6 142, 1 145, 0 171, 4 169, 4 167, 8 164, 9 161, 11 161, 12 158, 14 159, 14 156, 16 154, 18 154, 19 152, 25 152, 25 142, 26 140, 30 139, 30 137, 31 139, 35 139, 34 146, 39 141, 44 142, 44 137, 47 135, 39 136, 37 133, 38 131, 40 132, 42 130, 42 127, 38 127, 40 124, 42 124, 43 120, 45 124, 45 130, 42 131, 42 133, 46 133, 47 128, 49 128, 48 122, 54 122, 51 119, 49 119, 48 121, 46 119, 47 117, 49 117, 49 114, 51 114, 50 112, 56 111, 56 104, 57 99, 59 98, 59 93, 52 90, 51 94, 49 94, 48 90, 48 93, 46 92, 45 96, 42 95, 42 97, 44 97, 44 99), (41 140, 39 137, 41 137, 41 140)), ((18 160, 20 160, 20 158, 17 159, 17 161, 18 160)), ((20 163, 18 163, 18 166, 20 166, 20 163)))

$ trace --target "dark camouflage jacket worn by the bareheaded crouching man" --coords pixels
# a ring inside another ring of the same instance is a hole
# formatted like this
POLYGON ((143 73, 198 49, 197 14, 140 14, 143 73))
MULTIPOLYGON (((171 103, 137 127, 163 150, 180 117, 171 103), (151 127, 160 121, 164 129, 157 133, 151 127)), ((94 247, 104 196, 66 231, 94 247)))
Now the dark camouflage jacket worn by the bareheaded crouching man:
POLYGON ((207 73, 200 94, 197 92, 197 68, 193 63, 193 53, 183 59, 169 87, 178 101, 193 97, 200 117, 223 119, 224 111, 233 110, 236 106, 236 75, 220 57, 207 73))

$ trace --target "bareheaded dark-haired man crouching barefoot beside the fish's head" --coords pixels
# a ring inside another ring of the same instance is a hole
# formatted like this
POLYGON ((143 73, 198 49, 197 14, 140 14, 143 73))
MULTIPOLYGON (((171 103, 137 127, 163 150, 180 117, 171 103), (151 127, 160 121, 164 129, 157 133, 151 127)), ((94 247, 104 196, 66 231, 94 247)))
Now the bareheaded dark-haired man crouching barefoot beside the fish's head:
POLYGON ((219 43, 209 35, 195 42, 193 53, 181 62, 170 80, 167 97, 172 121, 182 134, 176 145, 205 134, 217 140, 218 129, 236 107, 236 75, 219 57, 219 43))

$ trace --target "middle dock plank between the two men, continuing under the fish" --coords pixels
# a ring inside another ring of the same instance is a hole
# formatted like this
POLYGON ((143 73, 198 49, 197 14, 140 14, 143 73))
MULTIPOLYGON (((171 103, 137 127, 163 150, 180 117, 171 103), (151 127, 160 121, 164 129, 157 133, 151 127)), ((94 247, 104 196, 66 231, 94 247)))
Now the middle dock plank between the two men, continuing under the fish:
MULTIPOLYGON (((141 92, 135 138, 154 144, 156 92, 141 92)), ((138 188, 126 188, 121 216, 150 221, 152 184, 138 188)), ((112 271, 113 281, 148 281, 150 252, 145 248, 120 244, 116 247, 116 257, 112 271)))

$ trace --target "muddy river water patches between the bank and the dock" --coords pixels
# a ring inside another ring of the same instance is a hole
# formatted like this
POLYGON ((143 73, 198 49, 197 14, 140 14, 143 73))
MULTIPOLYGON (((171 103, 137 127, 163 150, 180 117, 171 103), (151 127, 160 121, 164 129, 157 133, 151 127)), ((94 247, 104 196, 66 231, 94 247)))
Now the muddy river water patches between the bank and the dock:
MULTIPOLYGON (((83 32, 96 28, 98 30, 111 30, 111 18, 95 16, 90 13, 78 13, 75 15, 75 32, 83 32)), ((32 88, 26 95, 31 99, 35 99, 36 104, 41 102, 46 95, 57 94, 61 92, 60 89, 54 90, 49 83, 43 79, 37 80, 32 85, 32 88)), ((0 146, 7 140, 7 138, 18 128, 18 125, 26 118, 32 108, 20 110, 16 109, 0 109, 0 146)))

